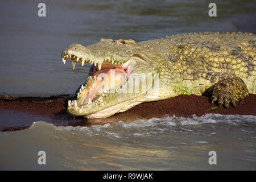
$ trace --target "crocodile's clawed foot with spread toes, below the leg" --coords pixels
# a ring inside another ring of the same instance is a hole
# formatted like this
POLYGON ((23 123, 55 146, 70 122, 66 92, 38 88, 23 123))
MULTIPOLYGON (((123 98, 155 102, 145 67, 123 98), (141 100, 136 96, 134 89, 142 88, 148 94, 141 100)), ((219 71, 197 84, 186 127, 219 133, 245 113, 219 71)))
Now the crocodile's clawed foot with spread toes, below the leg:
POLYGON ((229 108, 229 104, 231 103, 234 108, 236 107, 236 102, 238 101, 232 94, 228 92, 213 92, 212 94, 212 104, 213 102, 217 101, 218 107, 224 106, 226 109, 229 108))

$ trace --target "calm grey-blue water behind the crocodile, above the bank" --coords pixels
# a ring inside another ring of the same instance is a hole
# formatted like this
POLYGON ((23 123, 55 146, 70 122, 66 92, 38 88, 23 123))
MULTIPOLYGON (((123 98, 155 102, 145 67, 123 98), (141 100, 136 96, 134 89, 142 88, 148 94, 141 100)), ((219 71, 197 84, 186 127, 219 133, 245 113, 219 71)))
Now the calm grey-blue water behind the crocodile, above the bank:
POLYGON ((1 1, 0 93, 51 96, 74 93, 85 82, 88 67, 61 61, 71 43, 87 46, 101 38, 136 42, 166 35, 204 31, 255 32, 254 1, 217 3, 217 17, 208 16, 211 1, 1 1))

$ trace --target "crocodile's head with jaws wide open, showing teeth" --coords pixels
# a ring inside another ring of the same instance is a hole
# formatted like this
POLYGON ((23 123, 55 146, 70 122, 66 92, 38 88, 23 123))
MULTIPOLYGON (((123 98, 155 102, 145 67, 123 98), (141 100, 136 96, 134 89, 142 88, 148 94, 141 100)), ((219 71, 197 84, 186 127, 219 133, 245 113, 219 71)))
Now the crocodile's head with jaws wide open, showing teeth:
POLYGON ((63 63, 91 63, 87 81, 77 89, 77 100, 68 101, 74 116, 104 118, 147 100, 157 67, 134 40, 101 39, 90 46, 71 44, 61 53, 63 63), (146 80, 145 80, 146 78, 146 80))

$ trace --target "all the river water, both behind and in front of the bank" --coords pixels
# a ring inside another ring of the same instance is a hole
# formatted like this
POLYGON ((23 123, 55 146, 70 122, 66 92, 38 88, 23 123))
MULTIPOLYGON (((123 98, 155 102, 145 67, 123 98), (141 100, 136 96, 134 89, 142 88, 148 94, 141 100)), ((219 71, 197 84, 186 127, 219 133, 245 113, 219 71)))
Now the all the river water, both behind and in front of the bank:
MULTIPOLYGON (((61 61, 71 43, 101 38, 136 42, 204 31, 256 32, 254 1, 1 1, 0 93, 51 96, 74 93, 87 67, 61 61)), ((91 127, 56 127, 0 133, 0 169, 256 169, 256 117, 207 114, 163 116, 91 127), (47 164, 39 165, 38 151, 47 164), (209 151, 217 164, 209 165, 209 151)), ((0 115, 0 122, 2 121, 0 115)), ((13 121, 19 122, 19 121, 13 121)))

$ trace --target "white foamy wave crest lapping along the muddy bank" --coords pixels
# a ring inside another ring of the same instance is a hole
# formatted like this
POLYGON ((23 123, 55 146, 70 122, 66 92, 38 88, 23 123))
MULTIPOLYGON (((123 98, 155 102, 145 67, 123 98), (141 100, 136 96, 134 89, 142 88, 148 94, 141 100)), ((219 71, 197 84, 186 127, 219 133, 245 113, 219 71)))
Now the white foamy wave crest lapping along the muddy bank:
MULTIPOLYGON (((57 130, 80 130, 80 131, 90 131, 90 132, 100 132, 102 130, 120 130, 120 129, 151 129, 163 132, 164 130, 173 126, 188 126, 188 125, 201 125, 205 123, 228 123, 229 125, 237 125, 241 122, 256 122, 255 115, 222 115, 222 114, 204 114, 201 117, 192 115, 190 118, 185 117, 175 117, 170 115, 164 115, 162 118, 151 118, 151 119, 140 119, 134 122, 124 122, 119 121, 110 125, 106 123, 105 125, 93 125, 91 127, 85 126, 59 126, 57 130)), ((34 126, 33 124, 32 126, 34 126)), ((181 129, 192 132, 193 130, 181 129)))

